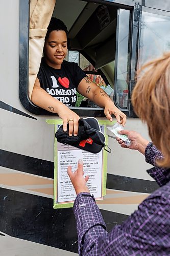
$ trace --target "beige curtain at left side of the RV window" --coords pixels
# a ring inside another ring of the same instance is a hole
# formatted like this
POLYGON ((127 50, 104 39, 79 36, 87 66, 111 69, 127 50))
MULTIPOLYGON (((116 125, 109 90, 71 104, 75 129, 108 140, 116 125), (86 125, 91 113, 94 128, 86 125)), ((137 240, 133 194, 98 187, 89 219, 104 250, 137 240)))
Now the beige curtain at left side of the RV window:
POLYGON ((30 0, 29 35, 29 97, 33 91, 44 46, 48 24, 53 14, 56 0, 30 0))

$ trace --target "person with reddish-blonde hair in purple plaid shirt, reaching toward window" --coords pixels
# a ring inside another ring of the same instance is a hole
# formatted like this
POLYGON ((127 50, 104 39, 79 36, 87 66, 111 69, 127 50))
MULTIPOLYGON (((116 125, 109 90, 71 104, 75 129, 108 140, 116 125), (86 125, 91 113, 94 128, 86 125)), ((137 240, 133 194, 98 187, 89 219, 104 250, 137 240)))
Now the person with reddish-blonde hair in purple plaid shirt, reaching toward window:
MULTIPOLYGON (((134 88, 132 103, 136 114, 147 123, 154 145, 136 132, 120 133, 132 140, 130 149, 144 154, 145 160, 154 166, 147 172, 160 188, 123 225, 108 233, 86 185, 89 177, 83 177, 82 160, 75 173, 68 166, 77 193, 74 214, 80 255, 170 255, 170 53, 149 62, 142 70, 145 68, 147 71, 134 88)), ((122 140, 117 140, 126 147, 122 140)))

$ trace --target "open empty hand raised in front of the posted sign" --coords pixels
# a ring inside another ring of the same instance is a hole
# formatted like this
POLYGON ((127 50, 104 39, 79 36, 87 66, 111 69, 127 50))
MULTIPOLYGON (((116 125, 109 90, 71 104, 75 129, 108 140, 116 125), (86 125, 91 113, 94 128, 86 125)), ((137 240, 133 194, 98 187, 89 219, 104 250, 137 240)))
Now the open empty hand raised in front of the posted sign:
POLYGON ((71 172, 71 166, 68 166, 67 168, 67 173, 68 176, 71 180, 72 185, 75 188, 76 194, 78 195, 81 192, 88 192, 90 193, 86 183, 89 179, 89 176, 87 175, 85 178, 83 177, 84 172, 83 172, 83 161, 80 159, 78 161, 78 168, 77 170, 72 173, 71 172))

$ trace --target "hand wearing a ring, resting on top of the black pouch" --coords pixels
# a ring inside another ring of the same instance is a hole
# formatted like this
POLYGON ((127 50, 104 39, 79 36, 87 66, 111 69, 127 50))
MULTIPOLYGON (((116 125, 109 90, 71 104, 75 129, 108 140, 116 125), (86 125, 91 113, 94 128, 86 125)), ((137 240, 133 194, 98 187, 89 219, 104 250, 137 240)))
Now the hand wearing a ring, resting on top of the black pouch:
POLYGON ((67 123, 69 123, 69 136, 72 136, 72 133, 77 136, 80 117, 65 105, 58 111, 58 115, 63 120, 63 131, 67 131, 67 123))

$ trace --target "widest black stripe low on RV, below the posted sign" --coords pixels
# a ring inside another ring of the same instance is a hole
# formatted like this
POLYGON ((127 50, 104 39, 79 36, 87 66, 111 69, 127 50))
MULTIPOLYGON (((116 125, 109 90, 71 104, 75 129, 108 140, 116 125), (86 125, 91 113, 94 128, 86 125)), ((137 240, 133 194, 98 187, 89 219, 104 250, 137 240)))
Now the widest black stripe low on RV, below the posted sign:
MULTIPOLYGON (((9 236, 78 252, 72 208, 53 209, 53 199, 0 188, 0 230, 9 236)), ((110 231, 127 215, 101 210, 110 231)))

